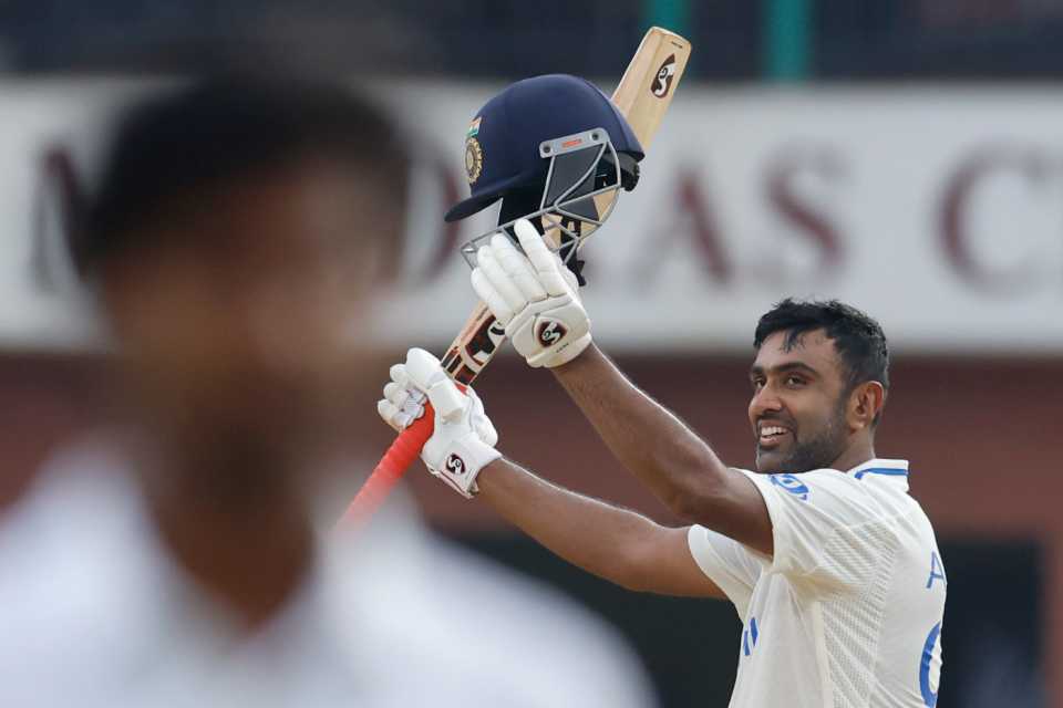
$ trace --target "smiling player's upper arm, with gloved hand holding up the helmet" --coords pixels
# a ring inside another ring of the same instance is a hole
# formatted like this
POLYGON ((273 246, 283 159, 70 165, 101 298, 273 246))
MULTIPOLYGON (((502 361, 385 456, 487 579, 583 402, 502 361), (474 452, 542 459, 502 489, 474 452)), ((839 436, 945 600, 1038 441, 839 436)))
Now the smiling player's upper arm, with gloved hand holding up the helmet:
POLYGON ((533 367, 551 368, 613 455, 685 519, 771 554, 772 523, 753 482, 724 466, 672 413, 591 343, 568 269, 527 221, 477 251, 472 283, 533 367))

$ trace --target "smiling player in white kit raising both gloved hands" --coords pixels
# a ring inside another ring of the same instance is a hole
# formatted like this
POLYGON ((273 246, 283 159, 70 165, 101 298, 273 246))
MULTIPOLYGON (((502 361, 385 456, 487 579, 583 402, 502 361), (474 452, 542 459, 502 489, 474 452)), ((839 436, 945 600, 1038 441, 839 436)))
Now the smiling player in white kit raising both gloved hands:
POLYGON ((756 472, 734 469, 591 343, 574 278, 534 226, 516 233, 523 253, 502 236, 481 249, 476 293, 623 466, 693 525, 657 524, 502 458, 476 395, 457 394, 434 357, 411 350, 379 409, 401 428, 433 403, 430 471, 596 575, 730 600, 744 624, 732 707, 935 706, 945 570, 908 493, 908 462, 875 454, 889 387, 878 323, 837 301, 784 300, 761 317, 749 405, 756 472), (536 335, 550 322, 559 340, 536 335))

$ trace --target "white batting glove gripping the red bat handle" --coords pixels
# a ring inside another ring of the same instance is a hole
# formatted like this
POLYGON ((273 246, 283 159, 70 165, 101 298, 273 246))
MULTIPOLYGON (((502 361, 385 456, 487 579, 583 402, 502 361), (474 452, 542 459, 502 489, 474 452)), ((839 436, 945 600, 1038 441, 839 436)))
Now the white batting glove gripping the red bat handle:
POLYGON ((479 491, 479 470, 502 455, 495 449, 498 433, 472 387, 465 393, 443 371, 440 360, 420 348, 406 352, 406 363, 391 367, 391 382, 376 412, 400 433, 424 415, 424 403, 435 409, 435 429, 421 450, 429 471, 469 499, 479 491))

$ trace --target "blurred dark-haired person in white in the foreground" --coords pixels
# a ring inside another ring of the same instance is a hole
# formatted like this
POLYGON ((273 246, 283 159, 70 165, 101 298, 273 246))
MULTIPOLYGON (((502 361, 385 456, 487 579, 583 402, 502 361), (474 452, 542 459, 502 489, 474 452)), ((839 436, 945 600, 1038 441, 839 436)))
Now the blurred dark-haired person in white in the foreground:
POLYGON ((124 114, 74 257, 126 425, 0 527, 0 704, 646 705, 605 629, 414 518, 332 529, 403 154, 317 84, 124 114))

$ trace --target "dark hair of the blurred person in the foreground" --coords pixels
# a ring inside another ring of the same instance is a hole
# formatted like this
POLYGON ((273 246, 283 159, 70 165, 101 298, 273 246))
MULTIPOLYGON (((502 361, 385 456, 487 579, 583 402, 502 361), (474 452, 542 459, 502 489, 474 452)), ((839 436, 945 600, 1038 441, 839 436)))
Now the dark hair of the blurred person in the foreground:
POLYGON ((297 77, 205 77, 153 94, 117 118, 79 228, 83 275, 143 243, 137 228, 209 191, 306 158, 364 167, 381 190, 405 197, 409 155, 386 115, 348 87, 297 77))

